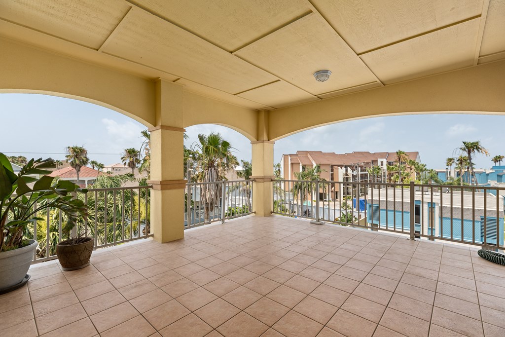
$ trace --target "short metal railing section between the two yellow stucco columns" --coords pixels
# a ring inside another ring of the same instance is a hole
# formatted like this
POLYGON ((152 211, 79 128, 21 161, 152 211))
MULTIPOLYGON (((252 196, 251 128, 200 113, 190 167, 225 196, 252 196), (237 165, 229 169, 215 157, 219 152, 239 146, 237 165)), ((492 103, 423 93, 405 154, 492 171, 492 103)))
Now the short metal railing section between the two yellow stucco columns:
POLYGON ((186 184, 184 228, 252 213, 252 180, 186 184), (188 202, 189 201, 189 202, 188 202), (188 217, 189 214, 189 217, 188 217))

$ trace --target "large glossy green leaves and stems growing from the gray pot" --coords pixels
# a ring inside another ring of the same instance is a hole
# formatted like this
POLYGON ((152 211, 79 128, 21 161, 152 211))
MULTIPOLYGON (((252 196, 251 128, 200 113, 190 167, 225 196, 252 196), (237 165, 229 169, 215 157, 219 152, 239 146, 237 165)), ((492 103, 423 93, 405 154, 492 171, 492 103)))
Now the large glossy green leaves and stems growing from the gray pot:
POLYGON ((70 181, 55 181, 55 177, 46 175, 53 168, 56 168, 56 161, 51 158, 31 159, 16 174, 7 156, 0 153, 0 252, 27 245, 24 233, 29 224, 41 220, 37 212, 43 209, 56 208, 67 216, 62 231, 69 238, 72 228, 87 216, 87 206, 74 198, 76 192, 86 190, 70 181), (33 187, 28 186, 31 183, 33 187))

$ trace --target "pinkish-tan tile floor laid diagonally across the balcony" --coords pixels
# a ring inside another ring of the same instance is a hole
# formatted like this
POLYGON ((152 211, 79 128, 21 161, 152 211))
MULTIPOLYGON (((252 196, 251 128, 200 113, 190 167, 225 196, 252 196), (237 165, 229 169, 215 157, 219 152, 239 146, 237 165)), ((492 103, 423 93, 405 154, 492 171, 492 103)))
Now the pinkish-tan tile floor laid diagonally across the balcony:
POLYGON ((254 216, 32 266, 8 336, 505 336, 505 267, 476 249, 254 216))

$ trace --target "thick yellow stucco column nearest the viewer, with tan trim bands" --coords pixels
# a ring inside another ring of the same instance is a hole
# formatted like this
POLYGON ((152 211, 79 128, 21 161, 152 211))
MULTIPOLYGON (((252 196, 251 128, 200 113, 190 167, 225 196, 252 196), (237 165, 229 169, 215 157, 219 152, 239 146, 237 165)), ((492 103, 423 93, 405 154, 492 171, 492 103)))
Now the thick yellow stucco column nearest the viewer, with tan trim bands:
POLYGON ((151 233, 158 242, 184 237, 182 86, 156 82, 157 126, 150 128, 151 233))

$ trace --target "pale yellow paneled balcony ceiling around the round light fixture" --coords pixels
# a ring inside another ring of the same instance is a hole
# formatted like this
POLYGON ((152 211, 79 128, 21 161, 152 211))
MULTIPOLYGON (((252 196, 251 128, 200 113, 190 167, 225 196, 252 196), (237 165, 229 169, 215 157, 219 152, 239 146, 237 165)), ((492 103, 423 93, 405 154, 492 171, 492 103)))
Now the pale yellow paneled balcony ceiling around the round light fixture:
POLYGON ((0 0, 0 36, 272 110, 505 59, 505 0, 0 0))

